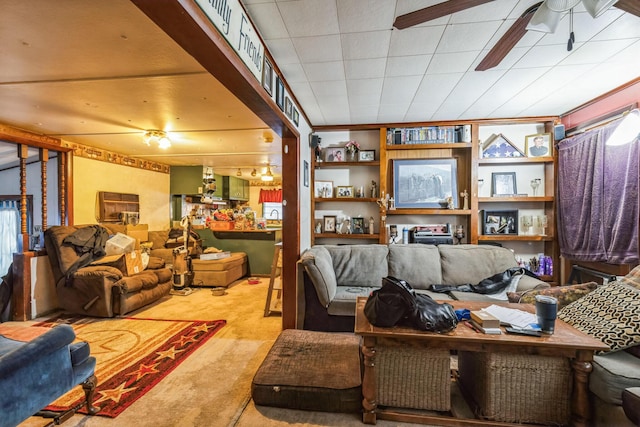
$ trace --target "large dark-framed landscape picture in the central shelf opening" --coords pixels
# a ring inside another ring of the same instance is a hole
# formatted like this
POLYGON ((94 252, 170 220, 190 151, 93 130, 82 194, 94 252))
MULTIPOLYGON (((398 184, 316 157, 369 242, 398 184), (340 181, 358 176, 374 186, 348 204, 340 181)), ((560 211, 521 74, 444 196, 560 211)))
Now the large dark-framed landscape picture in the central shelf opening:
POLYGON ((393 196, 396 208, 457 208, 456 159, 393 160, 393 196))

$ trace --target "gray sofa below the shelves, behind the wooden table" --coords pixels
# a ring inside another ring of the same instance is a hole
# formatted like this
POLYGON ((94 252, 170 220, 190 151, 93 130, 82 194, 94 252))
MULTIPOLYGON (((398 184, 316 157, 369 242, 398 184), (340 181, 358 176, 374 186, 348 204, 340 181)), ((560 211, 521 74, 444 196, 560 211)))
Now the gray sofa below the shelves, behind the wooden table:
MULTIPOLYGON (((316 245, 298 262, 297 327, 353 331, 356 298, 379 288, 385 276, 404 279, 436 300, 496 301, 477 293, 427 289, 432 284, 477 284, 517 266, 509 249, 491 245, 316 245)), ((549 285, 522 275, 516 291, 542 287, 549 285)))

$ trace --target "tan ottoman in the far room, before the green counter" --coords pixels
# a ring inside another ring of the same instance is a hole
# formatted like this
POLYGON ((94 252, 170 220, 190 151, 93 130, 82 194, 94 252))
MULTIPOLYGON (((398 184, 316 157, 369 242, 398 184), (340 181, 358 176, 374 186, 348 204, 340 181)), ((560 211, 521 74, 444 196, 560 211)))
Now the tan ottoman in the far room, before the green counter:
POLYGON ((247 275, 247 254, 233 252, 231 256, 215 260, 191 260, 192 286, 227 287, 247 275))

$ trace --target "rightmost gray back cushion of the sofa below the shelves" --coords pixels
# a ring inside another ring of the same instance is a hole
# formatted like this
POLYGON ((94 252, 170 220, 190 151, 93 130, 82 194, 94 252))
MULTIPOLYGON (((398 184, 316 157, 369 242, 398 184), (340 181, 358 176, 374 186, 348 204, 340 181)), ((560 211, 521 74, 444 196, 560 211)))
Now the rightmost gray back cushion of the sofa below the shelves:
POLYGON ((513 252, 490 245, 439 245, 442 283, 476 284, 482 279, 517 267, 513 252))

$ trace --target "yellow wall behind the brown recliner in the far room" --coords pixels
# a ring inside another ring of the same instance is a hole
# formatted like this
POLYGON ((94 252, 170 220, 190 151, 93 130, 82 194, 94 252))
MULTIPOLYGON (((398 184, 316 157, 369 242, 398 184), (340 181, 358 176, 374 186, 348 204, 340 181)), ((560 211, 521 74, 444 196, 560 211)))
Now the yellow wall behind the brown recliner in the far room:
POLYGON ((97 222, 99 191, 133 193, 140 197, 140 223, 149 230, 170 227, 169 174, 74 157, 73 215, 75 224, 97 222))

